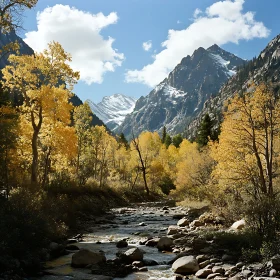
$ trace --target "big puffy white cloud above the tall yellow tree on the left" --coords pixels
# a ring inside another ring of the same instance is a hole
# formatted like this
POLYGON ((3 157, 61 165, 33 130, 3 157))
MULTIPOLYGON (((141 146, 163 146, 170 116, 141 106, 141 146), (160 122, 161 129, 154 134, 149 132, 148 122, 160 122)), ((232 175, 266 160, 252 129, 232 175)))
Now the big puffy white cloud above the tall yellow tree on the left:
POLYGON ((124 55, 113 48, 114 39, 100 31, 118 21, 116 13, 91 14, 67 5, 55 5, 37 14, 37 31, 25 34, 25 42, 41 52, 51 41, 71 53, 71 66, 87 84, 102 83, 106 72, 121 66, 124 55))

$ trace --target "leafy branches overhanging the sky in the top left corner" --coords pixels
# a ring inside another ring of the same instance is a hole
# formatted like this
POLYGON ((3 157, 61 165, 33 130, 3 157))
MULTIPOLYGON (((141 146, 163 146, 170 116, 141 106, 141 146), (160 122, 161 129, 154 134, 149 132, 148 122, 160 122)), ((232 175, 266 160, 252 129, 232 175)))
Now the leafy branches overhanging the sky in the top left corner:
POLYGON ((0 26, 2 32, 21 28, 25 9, 32 9, 38 0, 2 0, 0 3, 0 26))

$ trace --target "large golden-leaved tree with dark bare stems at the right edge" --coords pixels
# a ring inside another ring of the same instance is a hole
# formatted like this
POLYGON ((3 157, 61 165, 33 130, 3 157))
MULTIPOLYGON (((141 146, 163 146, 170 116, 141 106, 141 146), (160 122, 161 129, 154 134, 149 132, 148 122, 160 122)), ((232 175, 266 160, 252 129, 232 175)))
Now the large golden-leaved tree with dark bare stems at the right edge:
MULTIPOLYGON (((230 100, 224 116, 219 144, 212 146, 217 161, 213 175, 223 190, 258 204, 274 205, 279 182, 280 155, 279 92, 261 84, 230 100)), ((274 219, 269 209, 258 218, 259 229, 274 219)))

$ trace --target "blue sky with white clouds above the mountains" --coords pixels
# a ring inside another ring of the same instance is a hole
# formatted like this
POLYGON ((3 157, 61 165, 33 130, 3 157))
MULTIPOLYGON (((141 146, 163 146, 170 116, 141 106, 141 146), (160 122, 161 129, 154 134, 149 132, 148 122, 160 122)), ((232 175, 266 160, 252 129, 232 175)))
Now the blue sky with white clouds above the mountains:
POLYGON ((199 47, 258 56, 280 33, 279 10, 279 0, 39 0, 19 35, 36 52, 58 41, 80 71, 75 93, 98 103, 147 95, 199 47))

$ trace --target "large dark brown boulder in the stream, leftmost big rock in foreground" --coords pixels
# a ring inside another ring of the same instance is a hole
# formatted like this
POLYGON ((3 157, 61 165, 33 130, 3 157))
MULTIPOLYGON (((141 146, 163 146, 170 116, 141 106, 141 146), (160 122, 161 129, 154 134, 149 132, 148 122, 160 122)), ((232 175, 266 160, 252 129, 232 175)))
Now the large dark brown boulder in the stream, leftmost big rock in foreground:
POLYGON ((103 253, 81 249, 72 256, 71 266, 86 267, 89 264, 98 264, 103 262, 106 262, 106 258, 103 253))

